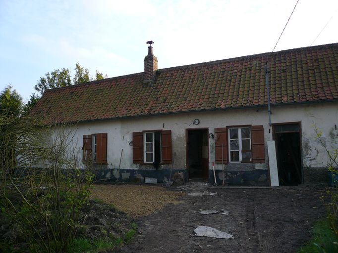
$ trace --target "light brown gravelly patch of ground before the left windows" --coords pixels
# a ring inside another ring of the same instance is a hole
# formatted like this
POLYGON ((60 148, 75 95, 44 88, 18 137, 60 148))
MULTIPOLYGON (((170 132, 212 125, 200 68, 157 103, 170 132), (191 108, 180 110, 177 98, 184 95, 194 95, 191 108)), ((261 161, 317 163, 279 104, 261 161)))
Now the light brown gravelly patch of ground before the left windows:
POLYGON ((132 217, 147 216, 163 209, 166 204, 178 204, 184 193, 169 191, 156 185, 96 184, 91 198, 112 204, 117 210, 132 217))

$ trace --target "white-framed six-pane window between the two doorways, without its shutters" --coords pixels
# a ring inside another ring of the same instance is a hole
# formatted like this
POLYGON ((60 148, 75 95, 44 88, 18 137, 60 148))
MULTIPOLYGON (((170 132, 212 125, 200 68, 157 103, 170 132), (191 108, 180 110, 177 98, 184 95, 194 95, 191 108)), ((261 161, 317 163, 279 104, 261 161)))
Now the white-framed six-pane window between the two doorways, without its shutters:
POLYGON ((250 127, 229 128, 229 162, 251 162, 250 127))

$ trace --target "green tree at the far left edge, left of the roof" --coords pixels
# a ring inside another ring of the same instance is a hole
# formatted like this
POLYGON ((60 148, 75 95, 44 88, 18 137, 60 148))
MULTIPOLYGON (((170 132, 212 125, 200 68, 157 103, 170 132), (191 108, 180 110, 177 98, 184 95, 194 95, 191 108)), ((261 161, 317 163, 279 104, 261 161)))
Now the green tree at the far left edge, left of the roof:
POLYGON ((23 109, 22 97, 11 85, 7 85, 0 93, 0 114, 18 117, 23 109))

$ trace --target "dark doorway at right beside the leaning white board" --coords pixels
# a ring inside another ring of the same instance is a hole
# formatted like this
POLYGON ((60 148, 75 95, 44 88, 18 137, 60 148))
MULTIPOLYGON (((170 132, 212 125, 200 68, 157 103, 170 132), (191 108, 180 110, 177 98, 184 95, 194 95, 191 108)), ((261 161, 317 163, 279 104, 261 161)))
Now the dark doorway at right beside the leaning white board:
POLYGON ((296 124, 274 125, 278 177, 280 185, 302 183, 300 155, 300 126, 296 124))

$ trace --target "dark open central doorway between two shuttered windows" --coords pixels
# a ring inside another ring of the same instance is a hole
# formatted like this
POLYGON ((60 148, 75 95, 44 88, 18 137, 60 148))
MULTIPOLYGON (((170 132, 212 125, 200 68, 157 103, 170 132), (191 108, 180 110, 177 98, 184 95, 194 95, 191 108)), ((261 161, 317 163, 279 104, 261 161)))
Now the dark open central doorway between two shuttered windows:
POLYGON ((208 129, 187 129, 187 168, 189 179, 208 180, 208 129))

